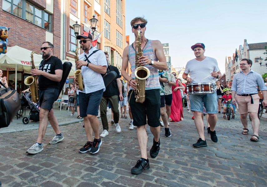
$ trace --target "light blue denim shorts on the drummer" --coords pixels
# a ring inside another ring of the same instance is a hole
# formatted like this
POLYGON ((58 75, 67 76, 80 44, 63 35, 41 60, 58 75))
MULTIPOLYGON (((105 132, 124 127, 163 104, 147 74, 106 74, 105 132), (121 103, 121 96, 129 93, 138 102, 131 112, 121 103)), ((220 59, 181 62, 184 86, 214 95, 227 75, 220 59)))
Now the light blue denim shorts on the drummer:
POLYGON ((204 103, 207 114, 217 113, 218 98, 216 93, 203 95, 191 94, 189 98, 191 111, 203 112, 204 103))

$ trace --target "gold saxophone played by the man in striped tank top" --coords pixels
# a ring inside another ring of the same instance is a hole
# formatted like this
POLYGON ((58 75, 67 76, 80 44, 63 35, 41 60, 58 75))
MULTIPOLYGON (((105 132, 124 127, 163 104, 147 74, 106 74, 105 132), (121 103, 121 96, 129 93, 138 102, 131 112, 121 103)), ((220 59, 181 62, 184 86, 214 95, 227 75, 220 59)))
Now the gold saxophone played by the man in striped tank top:
POLYGON ((141 66, 138 63, 138 58, 143 55, 141 48, 141 35, 140 29, 137 31, 137 40, 135 42, 135 101, 137 103, 145 102, 145 88, 146 88, 146 79, 150 76, 150 71, 148 68, 141 66))

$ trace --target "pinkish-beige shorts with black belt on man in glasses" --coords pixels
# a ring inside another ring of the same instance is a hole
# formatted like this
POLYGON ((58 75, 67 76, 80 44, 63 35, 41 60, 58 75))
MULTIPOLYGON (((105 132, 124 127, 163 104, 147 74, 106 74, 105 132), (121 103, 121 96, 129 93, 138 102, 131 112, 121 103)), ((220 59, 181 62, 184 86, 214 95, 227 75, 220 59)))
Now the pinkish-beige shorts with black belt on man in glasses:
POLYGON ((258 94, 254 94, 252 95, 252 98, 253 104, 250 103, 251 96, 235 96, 240 114, 247 114, 248 112, 258 113, 260 97, 258 94))

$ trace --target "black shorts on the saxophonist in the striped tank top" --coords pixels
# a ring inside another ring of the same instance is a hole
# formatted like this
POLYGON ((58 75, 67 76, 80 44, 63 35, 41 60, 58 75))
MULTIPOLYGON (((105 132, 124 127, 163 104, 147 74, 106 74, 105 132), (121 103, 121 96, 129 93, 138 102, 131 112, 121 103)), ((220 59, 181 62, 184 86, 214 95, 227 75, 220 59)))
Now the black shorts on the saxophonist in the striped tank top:
MULTIPOLYGON (((129 95, 132 91, 130 90, 129 95)), ((161 117, 160 90, 146 90, 145 95, 144 103, 136 103, 134 92, 131 95, 130 107, 133 116, 133 125, 142 126, 148 124, 151 127, 158 127, 160 126, 159 119, 161 117)))

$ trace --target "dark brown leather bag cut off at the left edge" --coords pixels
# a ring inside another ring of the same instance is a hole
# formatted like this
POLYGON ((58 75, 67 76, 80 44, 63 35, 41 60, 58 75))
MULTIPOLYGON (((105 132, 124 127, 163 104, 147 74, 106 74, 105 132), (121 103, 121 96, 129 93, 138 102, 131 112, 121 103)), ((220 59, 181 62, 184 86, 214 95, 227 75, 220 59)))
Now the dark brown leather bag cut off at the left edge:
MULTIPOLYGON (((4 86, 0 81, 0 85, 4 86)), ((21 108, 16 90, 0 88, 0 128, 7 127, 21 108)))

